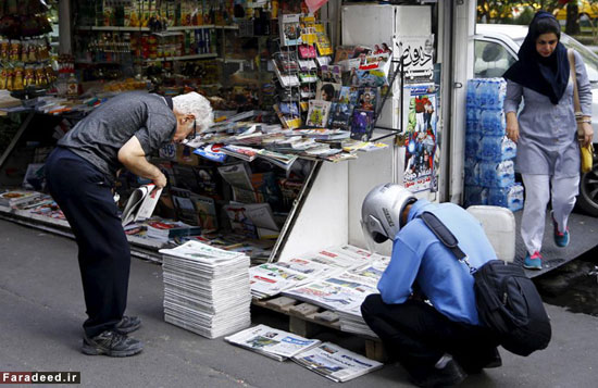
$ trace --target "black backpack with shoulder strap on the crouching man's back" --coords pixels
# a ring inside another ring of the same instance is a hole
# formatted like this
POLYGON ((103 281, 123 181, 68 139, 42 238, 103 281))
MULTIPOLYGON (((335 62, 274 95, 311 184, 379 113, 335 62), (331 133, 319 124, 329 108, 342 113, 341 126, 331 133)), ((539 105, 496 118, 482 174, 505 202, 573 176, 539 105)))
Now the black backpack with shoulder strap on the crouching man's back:
POLYGON ((551 337, 550 318, 536 286, 523 268, 502 260, 490 260, 475 268, 459 248, 457 238, 436 215, 424 212, 420 217, 470 268, 479 322, 496 334, 500 345, 519 355, 546 349, 551 337))

